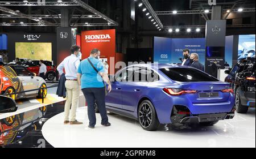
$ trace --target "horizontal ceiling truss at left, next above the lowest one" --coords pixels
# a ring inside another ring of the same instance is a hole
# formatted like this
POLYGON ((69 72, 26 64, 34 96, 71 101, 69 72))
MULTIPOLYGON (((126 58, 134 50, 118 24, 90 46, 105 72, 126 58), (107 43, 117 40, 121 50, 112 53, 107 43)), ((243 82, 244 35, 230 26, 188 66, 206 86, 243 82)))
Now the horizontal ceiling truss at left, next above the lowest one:
MULTIPOLYGON (((59 15, 14 15, 14 14, 0 14, 0 18, 59 18, 59 15)), ((98 15, 73 15, 73 19, 81 18, 81 19, 87 19, 87 18, 101 18, 101 16, 98 15)))

